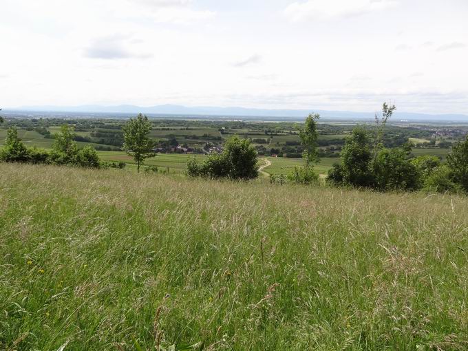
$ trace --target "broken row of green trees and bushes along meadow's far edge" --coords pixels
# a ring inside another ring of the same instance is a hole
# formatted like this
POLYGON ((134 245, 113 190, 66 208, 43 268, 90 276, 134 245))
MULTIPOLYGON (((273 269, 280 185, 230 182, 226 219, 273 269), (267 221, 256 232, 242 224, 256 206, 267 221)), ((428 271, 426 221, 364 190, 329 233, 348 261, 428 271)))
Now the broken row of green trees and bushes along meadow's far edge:
MULTIPOLYGON (((412 145, 390 148, 385 145, 385 125, 396 107, 383 104, 381 117, 376 116, 373 131, 357 126, 345 139, 341 162, 333 165, 326 178, 329 184, 343 187, 376 189, 379 191, 414 191, 426 189, 440 192, 468 192, 468 136, 458 142, 443 164, 436 156, 410 158, 412 145)), ((295 167, 286 175, 271 175, 271 182, 312 184, 319 181, 314 166, 320 160, 319 114, 310 114, 298 134, 303 150, 304 166, 295 167)), ((0 120, 3 122, 3 118, 0 120)), ((138 114, 123 127, 123 149, 134 158, 137 171, 147 158, 156 156, 155 142, 149 134, 152 126, 147 116, 138 114)), ((96 149, 79 149, 70 127, 64 125, 54 134, 51 151, 25 147, 18 137, 17 129, 8 129, 6 143, 0 149, 0 161, 46 164, 69 164, 78 167, 105 168, 125 167, 125 163, 102 162, 96 149)), ((154 168, 154 167, 153 167, 154 168)), ((228 139, 220 153, 207 156, 202 162, 195 158, 187 164, 187 175, 203 178, 229 178, 251 180, 258 177, 257 151, 251 140, 238 136, 228 139)))

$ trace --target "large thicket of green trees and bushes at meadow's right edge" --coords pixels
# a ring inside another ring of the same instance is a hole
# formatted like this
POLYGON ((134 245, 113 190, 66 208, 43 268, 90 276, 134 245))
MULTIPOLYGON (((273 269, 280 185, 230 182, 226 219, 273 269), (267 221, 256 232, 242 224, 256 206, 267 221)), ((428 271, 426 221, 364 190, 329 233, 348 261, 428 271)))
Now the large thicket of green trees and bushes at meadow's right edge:
POLYGON ((412 145, 387 148, 384 127, 395 106, 383 104, 383 117, 376 122, 376 136, 363 128, 353 129, 341 152, 341 163, 328 171, 328 182, 337 186, 370 188, 379 191, 468 191, 468 136, 455 144, 441 164, 434 156, 410 158, 412 145))

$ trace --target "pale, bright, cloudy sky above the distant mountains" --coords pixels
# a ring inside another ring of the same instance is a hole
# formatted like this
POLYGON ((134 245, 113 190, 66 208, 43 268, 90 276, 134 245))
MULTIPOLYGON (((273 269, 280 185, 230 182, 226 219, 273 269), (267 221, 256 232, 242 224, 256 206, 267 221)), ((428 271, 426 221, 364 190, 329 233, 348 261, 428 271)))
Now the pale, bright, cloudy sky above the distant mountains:
POLYGON ((468 114, 467 0, 0 0, 0 106, 468 114))

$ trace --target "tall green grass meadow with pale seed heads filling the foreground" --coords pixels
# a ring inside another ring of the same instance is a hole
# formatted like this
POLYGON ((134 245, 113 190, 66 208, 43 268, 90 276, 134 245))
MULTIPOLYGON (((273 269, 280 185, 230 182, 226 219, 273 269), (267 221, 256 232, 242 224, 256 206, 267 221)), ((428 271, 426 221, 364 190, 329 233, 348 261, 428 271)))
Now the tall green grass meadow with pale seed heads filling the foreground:
POLYGON ((467 350, 467 209, 0 164, 0 350, 467 350))

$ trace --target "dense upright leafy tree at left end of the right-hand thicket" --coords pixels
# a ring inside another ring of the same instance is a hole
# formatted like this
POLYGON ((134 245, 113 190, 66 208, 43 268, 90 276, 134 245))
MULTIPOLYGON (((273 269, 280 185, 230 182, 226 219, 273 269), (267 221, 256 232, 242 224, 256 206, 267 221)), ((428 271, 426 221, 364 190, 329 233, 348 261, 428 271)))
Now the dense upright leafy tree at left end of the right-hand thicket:
MULTIPOLYGON (((353 187, 369 187, 372 185, 372 151, 370 137, 363 127, 356 127, 345 141, 341 151, 340 173, 334 173, 334 178, 343 180, 343 184, 353 187), (339 176, 338 176, 339 175, 339 176)), ((335 172, 338 169, 334 170, 335 172)))

